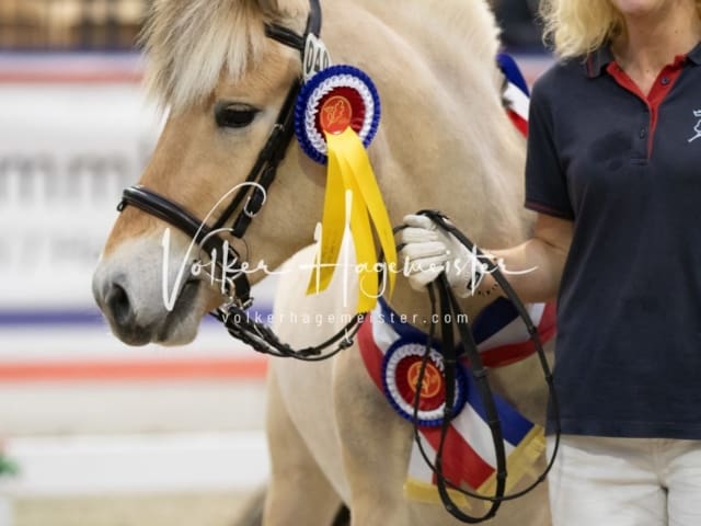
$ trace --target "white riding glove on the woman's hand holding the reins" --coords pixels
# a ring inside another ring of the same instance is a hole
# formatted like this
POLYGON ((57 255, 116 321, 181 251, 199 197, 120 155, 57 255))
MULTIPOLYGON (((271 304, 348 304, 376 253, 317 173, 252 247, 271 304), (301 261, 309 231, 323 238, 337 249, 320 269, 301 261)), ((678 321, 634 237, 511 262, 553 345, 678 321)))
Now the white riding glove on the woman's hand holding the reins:
POLYGON ((415 290, 446 272, 448 283, 461 298, 472 296, 487 273, 487 265, 460 243, 455 236, 438 229, 426 216, 404 216, 406 228, 400 231, 399 253, 404 274, 415 290))

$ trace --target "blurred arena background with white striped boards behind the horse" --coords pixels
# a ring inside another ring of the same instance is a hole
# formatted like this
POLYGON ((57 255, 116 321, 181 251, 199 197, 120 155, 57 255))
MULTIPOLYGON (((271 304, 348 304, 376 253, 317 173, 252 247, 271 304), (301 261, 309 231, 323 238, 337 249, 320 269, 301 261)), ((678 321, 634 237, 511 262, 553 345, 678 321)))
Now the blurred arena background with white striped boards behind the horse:
MULTIPOLYGON (((93 305, 162 124, 139 85, 148 4, 0 0, 0 526, 232 526, 267 477, 263 357, 207 320, 186 347, 127 347, 93 305)), ((493 4, 532 81, 537 0, 493 4)))

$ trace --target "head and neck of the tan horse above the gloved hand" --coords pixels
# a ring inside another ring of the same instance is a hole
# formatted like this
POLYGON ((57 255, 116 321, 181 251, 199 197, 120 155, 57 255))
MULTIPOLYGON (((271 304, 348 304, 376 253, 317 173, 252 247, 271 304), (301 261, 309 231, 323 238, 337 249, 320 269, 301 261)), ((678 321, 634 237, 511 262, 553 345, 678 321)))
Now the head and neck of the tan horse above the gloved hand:
MULTIPOLYGON (((235 260, 237 272, 242 262, 275 270, 313 241, 324 169, 288 142, 287 117, 317 10, 318 0, 154 2, 147 85, 170 114, 140 186, 124 194, 93 278, 100 308, 126 343, 195 336, 203 316, 231 295, 209 277, 214 251, 235 260)), ((524 141, 501 103, 486 2, 324 0, 323 39, 382 96, 368 152, 391 222, 439 207, 469 225, 478 243, 522 239, 524 141)), ((325 117, 344 112, 330 104, 325 117)), ((244 298, 248 279, 234 282, 244 298)), ((407 288, 395 298, 409 309, 421 298, 407 288)))

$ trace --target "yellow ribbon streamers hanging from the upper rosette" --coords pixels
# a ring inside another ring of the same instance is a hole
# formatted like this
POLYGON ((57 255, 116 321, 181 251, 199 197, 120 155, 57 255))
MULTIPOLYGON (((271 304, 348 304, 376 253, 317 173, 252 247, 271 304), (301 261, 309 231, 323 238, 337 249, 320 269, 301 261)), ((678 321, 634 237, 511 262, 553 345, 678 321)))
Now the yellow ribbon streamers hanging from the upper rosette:
POLYGON ((329 167, 321 250, 307 294, 322 291, 331 283, 346 227, 345 195, 350 192, 350 235, 358 272, 357 312, 368 312, 381 295, 374 231, 384 254, 384 279, 389 283, 389 294, 394 289, 397 248, 392 225, 360 137, 350 127, 342 134, 325 136, 329 167))

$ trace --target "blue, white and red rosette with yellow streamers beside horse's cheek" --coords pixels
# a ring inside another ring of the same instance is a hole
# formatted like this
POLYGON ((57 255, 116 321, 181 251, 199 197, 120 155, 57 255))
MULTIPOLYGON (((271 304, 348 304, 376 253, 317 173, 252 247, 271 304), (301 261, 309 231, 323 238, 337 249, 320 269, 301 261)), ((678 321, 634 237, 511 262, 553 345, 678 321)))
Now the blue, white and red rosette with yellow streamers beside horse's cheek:
POLYGON ((349 228, 358 274, 357 312, 372 310, 386 287, 392 293, 395 281, 392 225, 366 150, 377 132, 379 113, 372 81, 349 66, 332 66, 314 75, 302 88, 296 111, 302 149, 326 164, 320 251, 307 293, 320 293, 331 283, 349 228))

